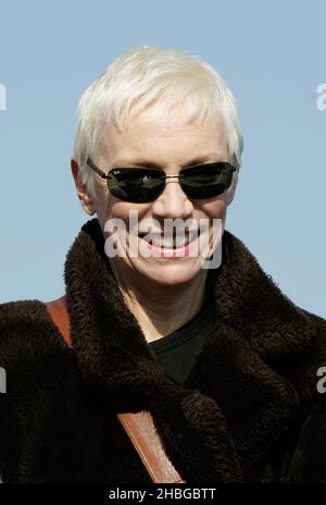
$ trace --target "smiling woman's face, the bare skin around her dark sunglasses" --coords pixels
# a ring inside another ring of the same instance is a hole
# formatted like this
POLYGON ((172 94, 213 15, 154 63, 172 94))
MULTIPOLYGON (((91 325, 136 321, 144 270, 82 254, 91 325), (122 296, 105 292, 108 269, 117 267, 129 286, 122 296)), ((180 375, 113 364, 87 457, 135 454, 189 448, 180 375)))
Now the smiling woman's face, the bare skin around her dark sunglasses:
MULTIPOLYGON (((223 122, 218 118, 204 118, 188 124, 187 114, 181 106, 166 113, 159 103, 138 116, 131 115, 128 127, 123 133, 120 133, 113 123, 108 122, 104 127, 98 167, 108 173, 113 167, 137 168, 137 162, 139 163, 140 160, 141 167, 148 167, 148 162, 154 163, 166 175, 177 175, 181 168, 200 162, 228 161, 223 122), (201 161, 195 162, 195 160, 201 161)), ((148 244, 138 233, 136 237, 134 235, 134 245, 136 239, 140 250, 137 255, 130 255, 129 212, 131 210, 138 212, 138 232, 142 233, 161 232, 163 234, 166 219, 170 222, 178 219, 181 223, 191 220, 192 230, 200 227, 200 220, 206 222, 209 220, 212 223, 212 219, 215 218, 222 220, 220 223, 224 230, 228 192, 213 198, 190 199, 183 192, 178 180, 172 178, 166 180, 163 193, 154 201, 135 204, 112 196, 106 182, 98 175, 96 175, 95 188, 92 208, 97 212, 104 237, 109 236, 104 230, 108 220, 120 219, 126 225, 125 256, 116 255, 110 258, 114 272, 123 282, 130 279, 133 282, 143 283, 147 280, 166 286, 183 284, 199 274, 203 262, 201 255, 196 253, 191 256, 172 258, 164 256, 163 248, 158 255, 158 250, 149 249, 148 244), (153 225, 149 227, 149 223, 153 225), (141 254, 143 248, 150 253, 141 254)), ((85 205, 84 208, 88 213, 93 213, 85 205)), ((210 229, 203 233, 206 233, 206 239, 209 239, 210 229)), ((202 241, 203 244, 203 236, 202 241)))

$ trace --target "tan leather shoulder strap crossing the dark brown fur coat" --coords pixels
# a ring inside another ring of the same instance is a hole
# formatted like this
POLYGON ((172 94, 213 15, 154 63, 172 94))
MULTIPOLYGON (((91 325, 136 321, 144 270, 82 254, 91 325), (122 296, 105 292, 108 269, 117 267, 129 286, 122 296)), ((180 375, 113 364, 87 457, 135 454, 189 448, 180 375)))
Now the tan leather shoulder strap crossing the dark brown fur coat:
MULTIPOLYGON (((46 304, 54 324, 70 347, 71 338, 70 313, 65 296, 46 304)), ((118 414, 117 418, 131 440, 147 471, 155 483, 185 483, 171 460, 164 453, 161 440, 155 431, 152 416, 142 410, 137 414, 118 414)))

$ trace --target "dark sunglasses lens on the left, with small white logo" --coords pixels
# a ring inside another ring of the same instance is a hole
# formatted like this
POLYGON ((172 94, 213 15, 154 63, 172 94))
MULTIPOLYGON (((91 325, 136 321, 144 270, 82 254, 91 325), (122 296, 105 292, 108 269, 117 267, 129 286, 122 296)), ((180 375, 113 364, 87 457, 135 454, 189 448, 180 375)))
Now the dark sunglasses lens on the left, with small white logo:
POLYGON ((108 180, 110 193, 125 201, 147 202, 160 196, 164 188, 161 171, 146 169, 114 169, 108 180))

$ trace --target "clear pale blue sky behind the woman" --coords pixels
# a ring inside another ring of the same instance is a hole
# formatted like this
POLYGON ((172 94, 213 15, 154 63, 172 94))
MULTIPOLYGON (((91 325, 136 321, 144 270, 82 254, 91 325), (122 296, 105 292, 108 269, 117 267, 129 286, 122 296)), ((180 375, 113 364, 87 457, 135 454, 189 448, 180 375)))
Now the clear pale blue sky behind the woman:
POLYGON ((287 296, 326 317, 325 23, 322 0, 0 0, 0 303, 63 294, 88 219, 70 172, 77 102, 146 44, 190 51, 226 79, 244 136, 226 227, 287 296))

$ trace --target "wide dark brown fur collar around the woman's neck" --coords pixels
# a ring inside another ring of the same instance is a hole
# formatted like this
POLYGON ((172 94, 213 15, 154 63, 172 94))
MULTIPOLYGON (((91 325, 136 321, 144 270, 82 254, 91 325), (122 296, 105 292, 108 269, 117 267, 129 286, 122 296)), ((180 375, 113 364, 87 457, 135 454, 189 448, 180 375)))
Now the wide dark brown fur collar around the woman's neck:
POLYGON ((88 221, 65 262, 74 350, 86 390, 114 412, 148 409, 165 451, 189 482, 240 482, 279 440, 298 407, 281 370, 312 348, 315 324, 225 231, 223 262, 209 270, 216 323, 184 387, 159 368, 127 309, 88 221))

